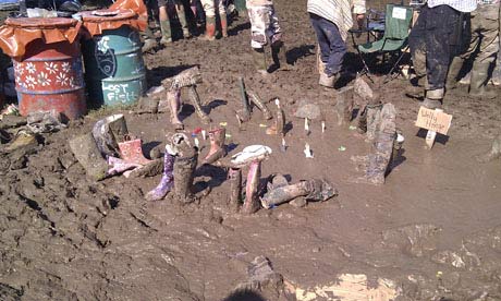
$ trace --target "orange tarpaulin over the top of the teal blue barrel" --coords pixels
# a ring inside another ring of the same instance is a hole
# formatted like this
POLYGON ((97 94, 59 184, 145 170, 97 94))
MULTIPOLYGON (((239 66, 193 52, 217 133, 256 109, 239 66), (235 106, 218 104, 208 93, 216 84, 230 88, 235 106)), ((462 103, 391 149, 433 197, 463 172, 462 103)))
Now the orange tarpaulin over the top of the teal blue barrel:
MULTIPOLYGON (((140 0, 139 0, 140 1, 140 0)), ((113 4, 114 5, 114 4, 113 4)), ((83 26, 90 37, 101 35, 102 31, 117 29, 123 25, 144 31, 146 22, 138 17, 138 14, 131 9, 108 9, 99 11, 81 12, 83 26)))

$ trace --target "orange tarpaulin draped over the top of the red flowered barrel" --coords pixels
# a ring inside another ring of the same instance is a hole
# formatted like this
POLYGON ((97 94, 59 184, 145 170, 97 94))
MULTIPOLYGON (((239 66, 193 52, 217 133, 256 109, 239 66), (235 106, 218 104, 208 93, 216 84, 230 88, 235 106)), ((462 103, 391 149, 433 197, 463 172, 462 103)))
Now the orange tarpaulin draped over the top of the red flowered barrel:
POLYGON ((9 57, 20 59, 26 52, 26 46, 36 39, 46 44, 73 44, 81 26, 81 22, 68 17, 9 17, 0 27, 0 48, 9 57))

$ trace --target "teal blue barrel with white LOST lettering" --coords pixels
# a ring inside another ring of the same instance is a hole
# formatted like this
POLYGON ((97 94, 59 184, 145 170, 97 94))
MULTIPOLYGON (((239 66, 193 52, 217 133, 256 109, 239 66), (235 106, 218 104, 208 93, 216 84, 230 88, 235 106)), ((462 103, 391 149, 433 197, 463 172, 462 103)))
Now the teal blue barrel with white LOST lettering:
MULTIPOLYGON (((136 14, 125 11, 110 16, 123 22, 136 14)), ((84 14, 84 26, 100 22, 103 16, 84 14)), ((85 80, 90 104, 95 107, 129 106, 139 100, 146 91, 146 71, 137 29, 122 25, 105 29, 84 40, 85 80)))

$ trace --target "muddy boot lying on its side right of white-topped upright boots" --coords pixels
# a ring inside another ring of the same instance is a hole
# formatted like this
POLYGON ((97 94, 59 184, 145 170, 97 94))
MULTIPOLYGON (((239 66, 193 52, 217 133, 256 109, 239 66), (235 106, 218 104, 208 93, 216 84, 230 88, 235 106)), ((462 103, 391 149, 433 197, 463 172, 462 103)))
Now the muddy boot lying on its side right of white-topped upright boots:
POLYGON ((314 179, 274 188, 262 196, 261 205, 268 209, 300 196, 305 196, 306 201, 327 201, 334 195, 338 195, 338 191, 331 183, 326 180, 314 179))

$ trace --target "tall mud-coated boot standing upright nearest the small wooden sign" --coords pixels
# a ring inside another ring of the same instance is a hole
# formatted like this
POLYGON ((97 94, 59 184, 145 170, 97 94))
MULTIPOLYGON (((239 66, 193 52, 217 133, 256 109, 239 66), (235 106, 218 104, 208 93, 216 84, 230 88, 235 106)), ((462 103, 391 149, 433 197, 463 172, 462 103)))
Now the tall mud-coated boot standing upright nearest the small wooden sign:
POLYGON ((395 118, 396 111, 392 104, 386 104, 381 109, 381 121, 368 156, 368 166, 365 176, 355 180, 358 183, 383 184, 384 177, 390 166, 396 139, 395 118))

